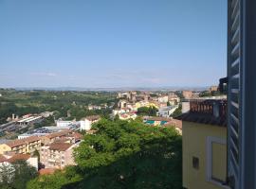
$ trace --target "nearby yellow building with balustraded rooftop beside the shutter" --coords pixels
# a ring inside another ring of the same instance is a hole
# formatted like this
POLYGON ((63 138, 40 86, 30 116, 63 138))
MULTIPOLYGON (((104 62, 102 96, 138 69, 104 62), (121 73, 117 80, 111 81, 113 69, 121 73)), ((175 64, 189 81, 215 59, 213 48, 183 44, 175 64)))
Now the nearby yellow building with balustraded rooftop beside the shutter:
POLYGON ((191 100, 182 120, 183 187, 223 189, 227 179, 227 100, 191 100))

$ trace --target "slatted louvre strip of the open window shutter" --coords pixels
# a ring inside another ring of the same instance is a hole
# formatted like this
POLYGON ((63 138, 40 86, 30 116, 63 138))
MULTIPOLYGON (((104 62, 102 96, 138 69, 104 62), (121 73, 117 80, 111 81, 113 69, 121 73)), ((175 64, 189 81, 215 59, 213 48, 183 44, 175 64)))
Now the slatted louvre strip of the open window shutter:
POLYGON ((229 75, 229 127, 228 127, 228 174, 231 188, 239 189, 241 161, 241 0, 229 0, 228 15, 228 75, 229 75))

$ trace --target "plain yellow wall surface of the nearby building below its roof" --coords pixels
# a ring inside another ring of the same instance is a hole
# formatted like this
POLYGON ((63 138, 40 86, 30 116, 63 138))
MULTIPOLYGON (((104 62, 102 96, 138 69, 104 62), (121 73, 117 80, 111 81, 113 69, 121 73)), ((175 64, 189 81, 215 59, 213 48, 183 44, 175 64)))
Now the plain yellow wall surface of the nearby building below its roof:
MULTIPOLYGON (((192 122, 183 122, 183 187, 188 189, 220 189, 221 184, 208 180, 209 137, 227 141, 227 128, 192 122), (199 168, 192 165, 192 158, 199 159, 199 168)), ((227 145, 212 143, 212 176, 225 178, 227 173, 227 145)))

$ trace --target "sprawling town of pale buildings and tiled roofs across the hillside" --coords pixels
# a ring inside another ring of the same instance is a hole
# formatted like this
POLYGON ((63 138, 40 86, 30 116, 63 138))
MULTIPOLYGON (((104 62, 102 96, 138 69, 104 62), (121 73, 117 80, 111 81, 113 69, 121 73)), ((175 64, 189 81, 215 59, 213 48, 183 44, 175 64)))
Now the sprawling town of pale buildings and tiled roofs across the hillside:
MULTIPOLYGON (((11 93, 21 92, 12 91, 11 93)), ((29 92, 22 93, 29 94, 29 92)), ((1 94, 2 104, 5 103, 5 99, 8 99, 4 94, 6 94, 5 90, 1 94)), ((68 93, 65 92, 61 92, 61 95, 68 97, 68 93)), ((99 94, 95 92, 93 95, 99 94)), ((53 97, 58 98, 58 95, 53 97)), ((102 98, 106 99, 105 96, 102 98)), ((52 174, 55 170, 62 170, 67 165, 76 164, 73 157, 74 149, 80 146, 84 134, 96 133, 93 125, 101 118, 141 120, 148 127, 170 127, 182 135, 182 120, 175 117, 186 112, 186 109, 190 109, 188 103, 199 99, 224 98, 224 95, 219 95, 218 87, 215 86, 202 92, 128 91, 115 92, 112 100, 105 102, 100 100, 101 104, 90 103, 82 106, 79 100, 70 101, 71 108, 67 109, 65 116, 58 116, 59 110, 27 112, 27 114, 9 112, 10 116, 5 117, 6 123, 0 126, 0 163, 24 160, 35 167, 40 174, 52 174), (74 114, 77 111, 76 107, 86 110, 84 117, 74 114), (107 115, 102 114, 101 110, 106 109, 110 110, 107 115), (86 112, 91 114, 86 115, 86 112)))

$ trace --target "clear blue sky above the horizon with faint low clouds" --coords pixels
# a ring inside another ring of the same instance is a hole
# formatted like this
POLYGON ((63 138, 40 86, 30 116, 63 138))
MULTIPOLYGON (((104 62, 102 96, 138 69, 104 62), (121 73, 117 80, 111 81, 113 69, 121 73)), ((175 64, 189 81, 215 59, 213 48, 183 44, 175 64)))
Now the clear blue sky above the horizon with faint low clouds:
POLYGON ((224 0, 0 0, 0 87, 209 86, 224 0))

